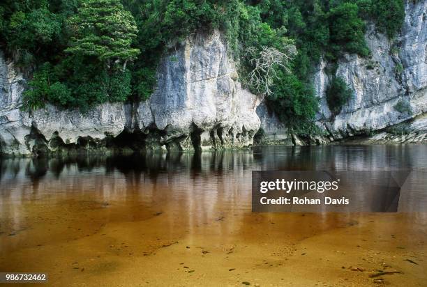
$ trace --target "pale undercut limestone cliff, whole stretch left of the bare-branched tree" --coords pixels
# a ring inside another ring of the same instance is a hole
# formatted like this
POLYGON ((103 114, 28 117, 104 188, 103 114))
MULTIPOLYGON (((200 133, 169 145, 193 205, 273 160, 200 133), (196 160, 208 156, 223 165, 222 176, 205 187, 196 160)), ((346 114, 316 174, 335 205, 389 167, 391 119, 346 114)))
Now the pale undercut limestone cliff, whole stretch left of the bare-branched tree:
POLYGON ((6 155, 105 148, 114 137, 130 139, 136 149, 242 147, 253 144, 260 127, 260 100, 241 88, 218 31, 197 34, 165 57, 146 102, 105 103, 87 113, 47 104, 27 112, 20 110, 25 84, 0 54, 0 150, 6 155))

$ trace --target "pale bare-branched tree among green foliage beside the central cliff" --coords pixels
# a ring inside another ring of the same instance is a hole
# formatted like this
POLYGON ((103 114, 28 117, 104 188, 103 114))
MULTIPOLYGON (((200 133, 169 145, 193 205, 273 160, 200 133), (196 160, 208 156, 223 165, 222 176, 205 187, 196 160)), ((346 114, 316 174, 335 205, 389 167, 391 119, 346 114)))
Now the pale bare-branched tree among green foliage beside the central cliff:
POLYGON ((289 63, 297 55, 297 48, 293 44, 287 44, 284 52, 273 47, 263 47, 258 52, 254 47, 249 47, 246 54, 253 65, 249 73, 249 85, 259 93, 269 95, 274 79, 278 79, 277 69, 282 67, 285 72, 290 72, 289 63))

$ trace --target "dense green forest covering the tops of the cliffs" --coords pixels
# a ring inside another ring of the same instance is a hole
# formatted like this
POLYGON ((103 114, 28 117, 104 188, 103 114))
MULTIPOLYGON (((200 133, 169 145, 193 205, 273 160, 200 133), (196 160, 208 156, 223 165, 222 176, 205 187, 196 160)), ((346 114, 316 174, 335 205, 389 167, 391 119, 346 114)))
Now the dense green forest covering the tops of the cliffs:
MULTIPOLYGON (((24 109, 50 102, 85 111, 146 100, 168 49, 195 31, 220 29, 242 82, 266 95, 282 121, 311 132, 310 75, 320 58, 368 57, 366 24, 393 38, 403 17, 403 0, 3 0, 0 46, 33 71, 24 109)), ((340 79, 333 83, 328 102, 339 111, 340 95, 350 91, 340 79)))

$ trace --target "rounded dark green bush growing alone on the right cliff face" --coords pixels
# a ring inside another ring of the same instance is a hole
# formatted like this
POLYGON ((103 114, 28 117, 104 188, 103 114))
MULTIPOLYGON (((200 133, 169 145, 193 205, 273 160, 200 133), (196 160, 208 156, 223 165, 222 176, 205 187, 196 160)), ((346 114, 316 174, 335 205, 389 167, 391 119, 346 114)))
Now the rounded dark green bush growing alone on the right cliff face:
POLYGON ((353 91, 347 86, 343 78, 334 77, 327 88, 326 94, 332 114, 339 114, 344 104, 352 98, 353 91))

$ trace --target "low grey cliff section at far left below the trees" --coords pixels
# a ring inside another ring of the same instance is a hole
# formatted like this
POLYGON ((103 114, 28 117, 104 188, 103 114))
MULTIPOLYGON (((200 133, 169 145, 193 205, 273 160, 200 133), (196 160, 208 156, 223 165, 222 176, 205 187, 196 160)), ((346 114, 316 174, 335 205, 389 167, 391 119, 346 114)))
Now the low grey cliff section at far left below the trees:
POLYGON ((73 144, 117 136, 126 123, 123 104, 101 104, 88 113, 60 110, 50 104, 38 111, 21 111, 26 88, 22 74, 0 54, 0 150, 6 155, 31 155, 55 150, 61 139, 73 144), (51 141, 55 139, 55 141, 51 141))

